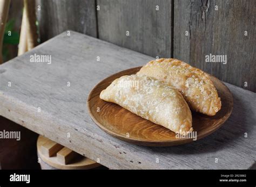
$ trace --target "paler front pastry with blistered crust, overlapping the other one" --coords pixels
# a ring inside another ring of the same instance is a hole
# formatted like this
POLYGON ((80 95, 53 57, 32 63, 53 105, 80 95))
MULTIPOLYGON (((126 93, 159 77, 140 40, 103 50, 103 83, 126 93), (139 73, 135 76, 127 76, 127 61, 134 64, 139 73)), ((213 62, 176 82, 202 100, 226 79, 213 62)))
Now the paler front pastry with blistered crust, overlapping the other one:
POLYGON ((179 91, 145 75, 122 76, 100 92, 100 99, 169 128, 176 133, 193 131, 190 108, 179 91))

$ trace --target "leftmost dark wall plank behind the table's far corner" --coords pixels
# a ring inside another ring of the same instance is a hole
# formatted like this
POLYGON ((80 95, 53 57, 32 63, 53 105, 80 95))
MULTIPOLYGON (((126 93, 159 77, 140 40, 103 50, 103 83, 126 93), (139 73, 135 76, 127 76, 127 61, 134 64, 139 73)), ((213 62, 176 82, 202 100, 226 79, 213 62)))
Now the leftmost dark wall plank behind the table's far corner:
POLYGON ((36 0, 41 41, 66 30, 97 37, 95 0, 36 0), (38 5, 41 10, 38 10, 38 5))

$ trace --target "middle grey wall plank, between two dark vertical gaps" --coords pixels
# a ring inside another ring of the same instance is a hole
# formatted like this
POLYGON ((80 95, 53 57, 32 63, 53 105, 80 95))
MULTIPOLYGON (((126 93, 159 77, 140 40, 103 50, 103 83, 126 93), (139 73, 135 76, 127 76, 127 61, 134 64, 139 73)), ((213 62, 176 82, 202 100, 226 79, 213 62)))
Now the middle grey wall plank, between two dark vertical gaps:
POLYGON ((172 0, 98 0, 97 5, 99 39, 150 56, 171 57, 172 0))

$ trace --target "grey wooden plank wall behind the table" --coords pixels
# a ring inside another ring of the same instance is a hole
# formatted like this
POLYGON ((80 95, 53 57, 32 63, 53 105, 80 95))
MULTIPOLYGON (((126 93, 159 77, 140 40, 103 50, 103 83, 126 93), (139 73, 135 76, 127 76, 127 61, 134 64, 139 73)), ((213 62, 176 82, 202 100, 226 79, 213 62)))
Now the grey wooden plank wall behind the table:
POLYGON ((175 57, 256 92, 254 0, 37 0, 37 5, 42 41, 73 30, 153 57, 175 57), (205 62, 210 53, 227 55, 227 64, 205 62))

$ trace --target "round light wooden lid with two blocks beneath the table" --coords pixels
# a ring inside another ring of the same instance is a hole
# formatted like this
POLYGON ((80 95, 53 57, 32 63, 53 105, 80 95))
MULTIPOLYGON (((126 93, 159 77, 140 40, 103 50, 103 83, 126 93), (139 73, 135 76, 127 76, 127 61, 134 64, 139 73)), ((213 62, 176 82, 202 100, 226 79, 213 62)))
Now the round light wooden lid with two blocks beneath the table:
POLYGON ((37 155, 42 169, 92 169, 101 166, 42 135, 37 139, 37 155))

